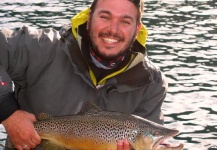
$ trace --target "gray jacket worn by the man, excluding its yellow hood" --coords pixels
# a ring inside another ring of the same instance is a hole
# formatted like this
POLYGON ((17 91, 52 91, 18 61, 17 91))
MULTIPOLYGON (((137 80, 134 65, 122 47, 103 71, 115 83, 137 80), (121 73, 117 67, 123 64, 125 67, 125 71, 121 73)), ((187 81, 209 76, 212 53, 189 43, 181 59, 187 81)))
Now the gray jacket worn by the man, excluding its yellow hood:
MULTIPOLYGON (((95 86, 71 29, 23 27, 0 32, 0 105, 12 92, 20 108, 35 115, 78 113, 86 100, 102 110, 132 113, 163 123, 161 105, 167 82, 146 54, 138 55, 122 73, 95 86), (61 34, 60 34, 61 33, 61 34)), ((1 114, 0 114, 1 115, 1 114)))

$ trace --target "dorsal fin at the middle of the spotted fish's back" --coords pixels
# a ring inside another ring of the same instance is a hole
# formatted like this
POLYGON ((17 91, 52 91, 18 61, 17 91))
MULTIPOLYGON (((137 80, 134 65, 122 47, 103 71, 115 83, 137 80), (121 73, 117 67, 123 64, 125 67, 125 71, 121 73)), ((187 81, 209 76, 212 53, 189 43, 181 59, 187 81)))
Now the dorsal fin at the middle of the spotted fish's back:
POLYGON ((93 101, 86 101, 79 114, 96 113, 102 111, 93 101))

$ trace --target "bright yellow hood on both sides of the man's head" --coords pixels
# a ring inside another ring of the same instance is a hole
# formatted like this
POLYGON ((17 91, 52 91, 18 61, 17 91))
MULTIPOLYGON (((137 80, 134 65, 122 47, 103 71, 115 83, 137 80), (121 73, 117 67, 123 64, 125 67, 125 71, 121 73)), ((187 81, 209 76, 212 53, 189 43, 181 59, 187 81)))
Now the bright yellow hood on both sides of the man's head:
MULTIPOLYGON (((87 22, 89 12, 90 12, 90 8, 87 8, 86 10, 81 11, 71 19, 72 33, 76 39, 78 39, 78 32, 77 32, 78 27, 84 24, 85 22, 87 22)), ((147 37, 148 37, 148 31, 146 27, 142 24, 142 28, 140 29, 136 39, 138 43, 144 48, 146 46, 147 37)))

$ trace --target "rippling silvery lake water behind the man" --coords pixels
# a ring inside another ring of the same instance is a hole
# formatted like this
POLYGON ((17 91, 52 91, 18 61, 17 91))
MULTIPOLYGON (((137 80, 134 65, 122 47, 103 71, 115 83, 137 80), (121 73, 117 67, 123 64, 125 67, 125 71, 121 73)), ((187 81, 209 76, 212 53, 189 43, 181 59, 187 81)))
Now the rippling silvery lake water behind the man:
MULTIPOLYGON (((1 0, 0 29, 59 29, 87 0, 1 0)), ((217 150, 217 1, 146 0, 148 54, 168 77, 165 126, 185 150, 217 150)), ((0 143, 6 133, 0 125, 0 143)), ((0 148, 1 150, 1 148, 0 148)))

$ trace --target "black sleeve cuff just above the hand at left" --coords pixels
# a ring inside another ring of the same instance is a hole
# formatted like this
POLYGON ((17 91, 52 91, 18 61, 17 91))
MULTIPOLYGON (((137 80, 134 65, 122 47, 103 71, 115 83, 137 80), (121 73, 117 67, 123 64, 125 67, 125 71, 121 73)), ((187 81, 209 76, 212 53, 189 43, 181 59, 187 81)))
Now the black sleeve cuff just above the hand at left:
POLYGON ((3 95, 0 99, 0 123, 19 109, 20 105, 12 93, 3 95))

